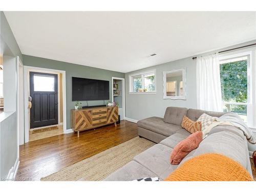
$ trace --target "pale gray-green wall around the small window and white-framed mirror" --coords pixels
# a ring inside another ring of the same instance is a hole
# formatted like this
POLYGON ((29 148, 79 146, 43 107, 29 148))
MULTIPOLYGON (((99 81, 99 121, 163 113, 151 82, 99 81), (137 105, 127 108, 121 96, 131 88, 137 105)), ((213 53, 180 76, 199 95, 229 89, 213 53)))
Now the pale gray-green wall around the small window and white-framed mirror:
POLYGON ((163 117, 167 106, 180 106, 185 108, 197 108, 197 61, 191 57, 163 63, 161 65, 145 68, 130 73, 125 73, 125 116, 140 120, 147 117, 163 117), (186 69, 187 99, 172 100, 163 99, 163 71, 186 69), (139 72, 156 70, 156 94, 130 94, 129 75, 139 72))

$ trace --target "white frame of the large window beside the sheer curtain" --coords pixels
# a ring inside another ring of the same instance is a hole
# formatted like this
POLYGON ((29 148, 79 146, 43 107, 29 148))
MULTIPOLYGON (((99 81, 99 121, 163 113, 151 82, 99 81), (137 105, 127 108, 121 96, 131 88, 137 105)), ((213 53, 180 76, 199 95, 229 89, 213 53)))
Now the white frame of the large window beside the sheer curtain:
MULTIPOLYGON (((232 59, 232 58, 239 58, 239 57, 245 57, 247 56, 247 102, 223 102, 222 100, 222 105, 223 104, 230 104, 230 105, 246 105, 247 106, 247 122, 246 124, 248 126, 252 126, 253 124, 253 113, 252 113, 252 108, 253 108, 253 104, 252 104, 252 92, 253 92, 253 88, 252 88, 252 52, 251 51, 239 51, 237 53, 226 53, 226 54, 222 54, 220 55, 219 61, 223 61, 223 60, 228 60, 228 59, 232 59)), ((224 63, 220 63, 220 65, 222 65, 224 63)), ((255 91, 255 90, 254 90, 255 91)))

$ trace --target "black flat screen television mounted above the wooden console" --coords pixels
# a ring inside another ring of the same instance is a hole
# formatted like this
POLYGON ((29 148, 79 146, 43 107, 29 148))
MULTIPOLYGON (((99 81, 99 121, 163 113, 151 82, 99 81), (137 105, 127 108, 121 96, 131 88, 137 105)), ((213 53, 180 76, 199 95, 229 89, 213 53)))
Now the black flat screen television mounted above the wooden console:
POLYGON ((110 81, 72 77, 72 101, 110 99, 110 81))

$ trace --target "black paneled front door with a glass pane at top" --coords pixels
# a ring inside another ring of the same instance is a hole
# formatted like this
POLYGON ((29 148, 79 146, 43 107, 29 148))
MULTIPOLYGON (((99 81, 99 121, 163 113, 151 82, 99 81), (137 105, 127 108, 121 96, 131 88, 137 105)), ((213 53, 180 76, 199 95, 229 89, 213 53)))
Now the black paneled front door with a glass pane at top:
POLYGON ((58 76, 30 72, 30 129, 58 124, 58 76))

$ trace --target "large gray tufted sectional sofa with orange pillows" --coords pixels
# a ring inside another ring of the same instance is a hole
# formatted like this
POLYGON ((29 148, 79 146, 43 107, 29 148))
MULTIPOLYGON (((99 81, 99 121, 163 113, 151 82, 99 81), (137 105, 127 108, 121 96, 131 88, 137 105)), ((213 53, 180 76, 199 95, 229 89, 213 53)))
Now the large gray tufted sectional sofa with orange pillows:
POLYGON ((195 109, 168 107, 164 118, 150 117, 137 122, 138 133, 157 144, 134 157, 134 159, 106 177, 105 181, 131 181, 144 177, 159 177, 164 180, 177 167, 190 158, 205 153, 225 155, 243 165, 251 173, 247 140, 244 133, 234 126, 219 125, 212 129, 199 147, 190 152, 179 165, 169 162, 173 148, 190 135, 182 129, 181 122, 186 115, 196 121, 203 113, 220 117, 224 113, 195 109))

